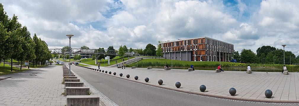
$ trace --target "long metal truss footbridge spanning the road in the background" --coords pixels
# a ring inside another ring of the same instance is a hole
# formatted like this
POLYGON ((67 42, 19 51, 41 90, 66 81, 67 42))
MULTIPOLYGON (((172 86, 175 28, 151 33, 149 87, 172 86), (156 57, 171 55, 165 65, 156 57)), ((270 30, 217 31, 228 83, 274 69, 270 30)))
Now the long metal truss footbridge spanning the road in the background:
POLYGON ((118 55, 116 50, 107 49, 49 49, 51 54, 107 54, 107 55, 118 55))

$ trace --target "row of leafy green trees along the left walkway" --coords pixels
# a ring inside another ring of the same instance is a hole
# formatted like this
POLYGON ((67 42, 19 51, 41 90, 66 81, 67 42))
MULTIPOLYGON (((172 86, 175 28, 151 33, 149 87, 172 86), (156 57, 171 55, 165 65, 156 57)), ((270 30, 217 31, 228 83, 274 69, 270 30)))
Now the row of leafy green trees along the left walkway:
POLYGON ((37 62, 44 62, 51 58, 51 51, 46 43, 36 34, 31 38, 27 27, 19 23, 16 15, 9 18, 1 3, 0 45, 0 60, 10 59, 11 63, 13 59, 21 61, 21 63, 25 60, 35 60, 37 65, 37 62))

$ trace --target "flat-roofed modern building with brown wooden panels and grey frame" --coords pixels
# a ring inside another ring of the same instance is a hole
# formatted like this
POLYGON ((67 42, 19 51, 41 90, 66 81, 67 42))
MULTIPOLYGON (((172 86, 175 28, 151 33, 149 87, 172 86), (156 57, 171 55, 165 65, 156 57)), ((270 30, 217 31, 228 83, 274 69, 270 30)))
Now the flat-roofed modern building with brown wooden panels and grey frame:
POLYGON ((161 42, 165 59, 182 61, 229 61, 233 59, 234 45, 220 40, 197 37, 161 42))

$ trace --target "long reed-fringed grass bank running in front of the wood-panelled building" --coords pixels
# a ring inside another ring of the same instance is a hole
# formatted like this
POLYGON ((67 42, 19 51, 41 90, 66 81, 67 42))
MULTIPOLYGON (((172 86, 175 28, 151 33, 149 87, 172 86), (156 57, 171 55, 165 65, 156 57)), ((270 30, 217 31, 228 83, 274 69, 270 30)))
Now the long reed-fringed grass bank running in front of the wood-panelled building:
MULTIPOLYGON (((143 59, 138 61, 139 68, 146 68, 146 67, 155 67, 155 68, 164 68, 164 65, 167 64, 171 67, 171 60, 169 59, 143 59)), ((180 60, 173 60, 173 68, 176 69, 187 69, 191 65, 193 65, 196 69, 216 69, 219 66, 219 62, 217 61, 180 61, 180 60)), ((239 70, 246 70, 247 66, 250 65, 251 69, 255 68, 257 70, 282 70, 282 64, 245 64, 245 63, 232 63, 232 62, 221 62, 222 68, 234 68, 239 70), (236 68, 237 67, 237 68, 236 68)), ((127 67, 137 66, 136 62, 127 64, 127 67)), ((299 69, 298 65, 286 65, 289 72, 297 72, 299 69)))

